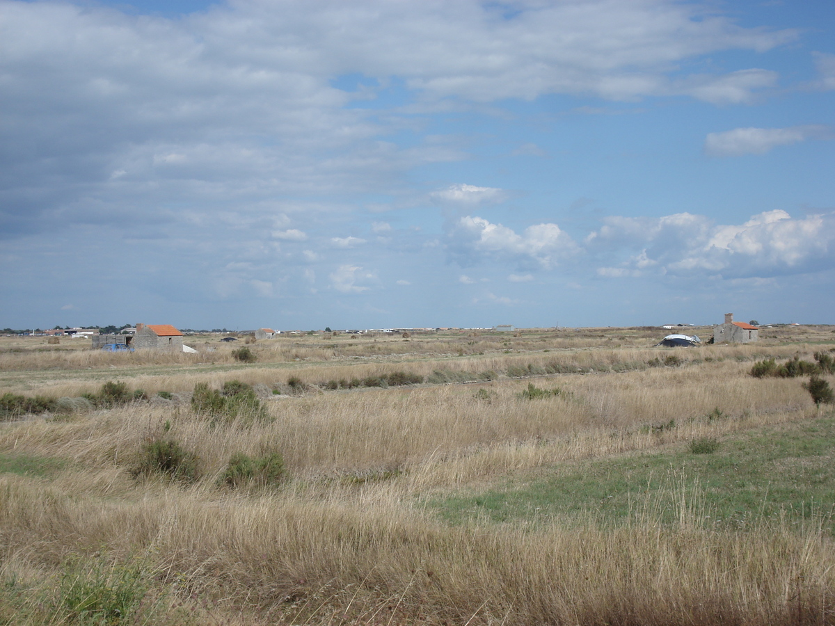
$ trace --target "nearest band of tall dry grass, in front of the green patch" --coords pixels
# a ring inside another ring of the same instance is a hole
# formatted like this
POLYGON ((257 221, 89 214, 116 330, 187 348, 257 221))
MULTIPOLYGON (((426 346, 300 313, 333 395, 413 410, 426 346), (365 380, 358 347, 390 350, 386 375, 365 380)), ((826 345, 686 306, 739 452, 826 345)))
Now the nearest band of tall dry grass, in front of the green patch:
POLYGON ((445 528, 396 502, 170 491, 92 505, 0 482, 18 562, 141 551, 180 593, 251 623, 807 624, 832 615, 832 542, 814 525, 750 533, 650 513, 622 528, 445 528), (254 613, 254 614, 253 614, 254 613))

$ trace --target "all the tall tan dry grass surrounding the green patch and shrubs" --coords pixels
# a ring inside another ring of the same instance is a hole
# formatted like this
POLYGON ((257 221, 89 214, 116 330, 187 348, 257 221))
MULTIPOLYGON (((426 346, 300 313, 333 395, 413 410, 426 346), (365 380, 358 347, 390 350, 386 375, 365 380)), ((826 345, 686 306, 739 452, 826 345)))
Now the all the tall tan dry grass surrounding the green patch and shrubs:
MULTIPOLYGON (((801 531, 781 523, 721 531, 702 523, 697 499, 658 496, 636 501, 630 522, 616 528, 591 517, 448 527, 417 504, 430 492, 559 462, 812 416, 817 407, 801 381, 748 372, 758 358, 813 349, 389 352, 318 365, 281 356, 203 370, 179 361, 107 367, 134 388, 185 398, 197 382, 219 388, 232 378, 276 386, 297 376, 311 389, 266 400, 265 421, 213 425, 186 400, 0 424, 3 456, 66 462, 53 476, 0 476, 0 575, 47 581, 69 554, 139 555, 176 598, 210 599, 215 613, 202 621, 217 623, 831 623, 835 553, 813 519, 801 531), (665 366, 669 355, 681 363, 665 366), (549 365, 584 373, 534 375, 549 365), (511 366, 528 374, 473 385, 313 388, 396 370, 511 366), (529 383, 562 392, 525 399, 529 383), (708 416, 716 408, 722 419, 708 416), (144 444, 158 437, 196 455, 196 482, 134 477, 144 444), (282 487, 219 485, 235 452, 273 451, 290 473, 282 487), (671 508, 678 523, 665 526, 671 508)), ((103 370, 34 372, 51 393, 72 396, 94 391, 103 370)))

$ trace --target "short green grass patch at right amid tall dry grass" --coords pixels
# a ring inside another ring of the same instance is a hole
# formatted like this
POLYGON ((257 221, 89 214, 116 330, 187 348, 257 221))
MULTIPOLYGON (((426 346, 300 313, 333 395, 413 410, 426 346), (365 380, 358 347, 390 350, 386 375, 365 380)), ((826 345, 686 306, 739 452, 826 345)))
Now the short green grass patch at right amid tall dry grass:
POLYGON ((820 517, 832 533, 835 414, 721 439, 681 442, 554 467, 543 477, 511 478, 480 492, 435 497, 428 506, 449 523, 580 522, 621 524, 652 510, 675 523, 683 497, 704 523, 749 528, 786 516, 820 517))

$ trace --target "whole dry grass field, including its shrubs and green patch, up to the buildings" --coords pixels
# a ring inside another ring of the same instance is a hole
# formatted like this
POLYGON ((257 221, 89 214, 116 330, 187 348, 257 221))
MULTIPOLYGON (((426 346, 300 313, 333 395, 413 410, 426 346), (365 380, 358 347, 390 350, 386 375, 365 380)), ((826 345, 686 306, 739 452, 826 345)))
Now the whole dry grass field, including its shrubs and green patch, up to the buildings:
POLYGON ((835 623, 835 329, 666 332, 0 337, 0 624, 835 623))

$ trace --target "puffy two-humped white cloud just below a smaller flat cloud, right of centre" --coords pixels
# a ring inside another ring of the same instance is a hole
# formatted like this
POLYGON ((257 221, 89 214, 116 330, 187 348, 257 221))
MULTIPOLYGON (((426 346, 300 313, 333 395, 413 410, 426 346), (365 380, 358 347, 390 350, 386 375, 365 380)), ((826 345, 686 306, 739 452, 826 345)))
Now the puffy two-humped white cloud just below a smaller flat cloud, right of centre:
POLYGON ((529 226, 522 235, 480 217, 465 216, 449 233, 449 249, 458 255, 508 255, 536 260, 549 268, 579 252, 569 235, 555 224, 529 226))

